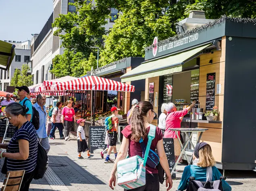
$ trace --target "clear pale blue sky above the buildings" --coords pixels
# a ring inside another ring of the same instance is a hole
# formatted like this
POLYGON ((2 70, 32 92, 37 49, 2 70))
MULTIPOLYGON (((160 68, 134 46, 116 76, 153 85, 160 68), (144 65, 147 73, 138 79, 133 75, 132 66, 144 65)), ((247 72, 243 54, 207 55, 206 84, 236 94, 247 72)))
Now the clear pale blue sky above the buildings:
POLYGON ((31 40, 52 11, 53 0, 0 0, 0 40, 31 40))

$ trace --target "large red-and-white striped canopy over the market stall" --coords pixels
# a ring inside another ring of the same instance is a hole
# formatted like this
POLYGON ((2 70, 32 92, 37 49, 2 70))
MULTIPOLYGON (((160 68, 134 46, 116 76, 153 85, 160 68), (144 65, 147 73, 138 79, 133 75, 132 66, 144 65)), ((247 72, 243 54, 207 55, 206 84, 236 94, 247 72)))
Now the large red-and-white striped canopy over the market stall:
POLYGON ((114 90, 114 91, 135 91, 134 85, 121 83, 111 79, 98 76, 86 76, 66 82, 60 82, 51 86, 54 91, 64 90, 114 90))

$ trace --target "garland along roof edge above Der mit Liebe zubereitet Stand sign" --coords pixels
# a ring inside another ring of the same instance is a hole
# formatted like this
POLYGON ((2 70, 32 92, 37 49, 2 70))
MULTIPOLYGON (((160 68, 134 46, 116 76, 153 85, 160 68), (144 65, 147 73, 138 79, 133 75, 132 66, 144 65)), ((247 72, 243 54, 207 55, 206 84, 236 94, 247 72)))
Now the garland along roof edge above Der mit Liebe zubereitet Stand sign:
POLYGON ((156 45, 150 45, 149 47, 145 48, 145 51, 148 51, 149 49, 152 49, 155 46, 161 46, 161 45, 165 45, 167 43, 170 43, 172 41, 177 41, 179 39, 182 39, 183 37, 192 35, 194 33, 198 33, 202 30, 205 30, 207 28, 210 28, 212 26, 215 26, 217 24, 221 24, 224 21, 232 21, 232 22, 240 22, 240 23, 248 23, 248 22, 252 22, 254 23, 254 25, 256 24, 256 19, 254 18, 239 18, 239 17, 229 17, 226 15, 222 15, 221 18, 219 19, 214 19, 212 22, 208 22, 206 24, 203 24, 199 27, 193 28, 191 30, 186 30, 184 33, 175 35, 174 37, 169 37, 168 39, 164 39, 162 41, 159 41, 156 45))

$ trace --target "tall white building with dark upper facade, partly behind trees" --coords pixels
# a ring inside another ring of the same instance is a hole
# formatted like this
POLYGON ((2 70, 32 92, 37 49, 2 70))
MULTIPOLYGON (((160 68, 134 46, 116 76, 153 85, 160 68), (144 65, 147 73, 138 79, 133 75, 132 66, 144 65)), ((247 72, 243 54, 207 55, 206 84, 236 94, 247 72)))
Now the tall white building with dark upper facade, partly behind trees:
MULTIPOLYGON (((55 76, 49 72, 52 59, 56 55, 62 55, 64 48, 60 48, 62 40, 54 36, 56 28, 52 28, 52 23, 59 14, 75 12, 75 7, 68 5, 73 0, 53 0, 53 12, 39 34, 34 34, 31 39, 31 61, 34 84, 42 83, 44 80, 54 79, 55 76)), ((117 19, 117 10, 111 9, 112 19, 108 19, 105 25, 106 30, 113 27, 114 20, 117 19)), ((63 33, 64 34, 64 33, 63 33)))

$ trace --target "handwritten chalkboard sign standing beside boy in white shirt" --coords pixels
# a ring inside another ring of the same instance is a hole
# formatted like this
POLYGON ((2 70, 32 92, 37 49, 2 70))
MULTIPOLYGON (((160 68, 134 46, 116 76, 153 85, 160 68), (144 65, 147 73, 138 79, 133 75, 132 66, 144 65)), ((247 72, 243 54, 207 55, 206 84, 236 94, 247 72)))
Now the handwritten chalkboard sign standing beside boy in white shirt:
POLYGON ((94 153, 94 150, 106 148, 105 142, 105 126, 89 126, 89 146, 90 152, 94 153))

